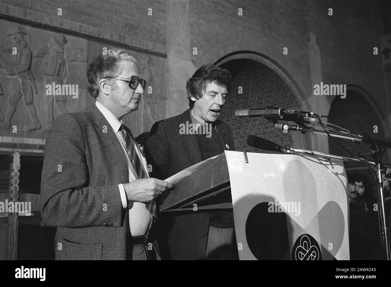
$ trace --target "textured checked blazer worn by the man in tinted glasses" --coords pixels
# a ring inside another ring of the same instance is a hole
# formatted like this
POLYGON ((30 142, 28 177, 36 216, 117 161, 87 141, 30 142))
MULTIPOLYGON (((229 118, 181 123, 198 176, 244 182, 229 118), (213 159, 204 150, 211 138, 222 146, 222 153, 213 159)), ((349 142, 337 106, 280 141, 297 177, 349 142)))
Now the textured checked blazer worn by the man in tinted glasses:
POLYGON ((56 259, 126 259, 118 184, 129 182, 118 138, 95 104, 58 117, 43 161, 41 216, 57 226, 56 259))

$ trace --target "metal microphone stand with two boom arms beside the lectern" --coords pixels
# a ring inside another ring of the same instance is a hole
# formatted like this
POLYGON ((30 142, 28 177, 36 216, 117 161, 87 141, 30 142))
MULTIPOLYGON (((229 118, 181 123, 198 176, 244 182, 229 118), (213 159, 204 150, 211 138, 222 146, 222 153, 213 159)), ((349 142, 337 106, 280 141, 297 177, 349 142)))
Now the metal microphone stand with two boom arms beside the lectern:
MULTIPOLYGON (((309 127, 301 127, 296 126, 294 128, 290 128, 291 130, 301 131, 301 132, 308 132, 308 133, 315 133, 315 134, 326 134, 325 131, 319 131, 314 128, 309 127)), ((363 136, 356 136, 356 135, 341 135, 338 133, 332 133, 329 132, 330 136, 338 137, 338 138, 345 138, 357 142, 367 142, 368 139, 364 139, 363 136)), ((371 165, 376 167, 376 182, 377 182, 377 204, 378 204, 378 219, 379 219, 379 228, 380 228, 380 240, 382 245, 382 254, 384 260, 391 260, 391 253, 390 253, 390 246, 389 246, 389 239, 388 239, 388 233, 387 233, 387 225, 386 225, 386 210, 384 206, 384 188, 382 183, 382 169, 384 167, 391 167, 389 164, 385 164, 382 162, 382 157, 384 155, 386 146, 389 145, 387 142, 377 141, 375 140, 372 144, 371 149, 375 149, 374 155, 372 156, 375 161, 367 161, 371 165)), ((326 157, 326 158, 333 158, 336 160, 343 160, 343 161, 352 161, 352 162, 359 162, 362 163, 362 161, 356 159, 356 158, 348 158, 345 156, 336 156, 333 154, 326 154, 323 152, 316 152, 316 151, 308 151, 305 149, 294 149, 291 147, 285 147, 283 148, 283 152, 287 154, 298 154, 298 155, 305 155, 305 156, 312 156, 312 157, 326 157)))

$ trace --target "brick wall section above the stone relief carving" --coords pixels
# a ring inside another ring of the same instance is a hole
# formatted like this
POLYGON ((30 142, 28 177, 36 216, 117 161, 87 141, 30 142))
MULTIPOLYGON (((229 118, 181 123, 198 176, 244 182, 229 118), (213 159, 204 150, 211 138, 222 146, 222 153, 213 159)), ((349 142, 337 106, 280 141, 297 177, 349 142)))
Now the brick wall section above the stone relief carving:
POLYGON ((2 0, 0 13, 145 50, 166 51, 166 4, 163 0, 2 0), (62 16, 57 14, 59 8, 62 16), (148 15, 149 8, 152 16, 148 15))

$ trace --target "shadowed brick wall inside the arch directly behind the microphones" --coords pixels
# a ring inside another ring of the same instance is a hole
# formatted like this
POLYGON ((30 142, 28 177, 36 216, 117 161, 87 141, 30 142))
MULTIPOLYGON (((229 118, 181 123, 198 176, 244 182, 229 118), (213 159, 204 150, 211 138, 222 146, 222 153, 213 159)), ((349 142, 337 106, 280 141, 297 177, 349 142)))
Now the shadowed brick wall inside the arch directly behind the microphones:
POLYGON ((283 133, 265 118, 234 116, 235 109, 266 106, 299 108, 298 100, 281 77, 267 66, 253 60, 232 60, 224 63, 222 67, 230 70, 234 83, 233 91, 226 100, 219 119, 230 124, 236 150, 266 152, 247 145, 249 135, 260 136, 280 145, 292 145, 291 132, 283 133), (243 94, 238 94, 239 86, 242 86, 243 94))

